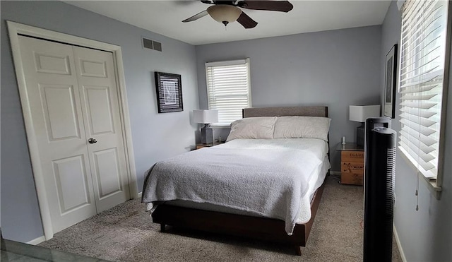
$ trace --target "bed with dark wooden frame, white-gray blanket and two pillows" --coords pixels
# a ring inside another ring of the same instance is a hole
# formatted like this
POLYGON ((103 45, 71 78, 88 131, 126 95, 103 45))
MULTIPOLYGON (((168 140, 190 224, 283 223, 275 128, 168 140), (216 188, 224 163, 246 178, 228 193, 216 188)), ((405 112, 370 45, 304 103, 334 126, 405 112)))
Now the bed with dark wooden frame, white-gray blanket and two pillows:
MULTIPOLYGON (((325 123, 328 107, 248 108, 243 110, 243 117, 243 121, 232 126, 227 143, 157 162, 146 174, 142 201, 162 232, 166 225, 171 225, 264 239, 290 244, 301 255, 301 246, 307 244, 324 179, 331 167, 328 131, 323 131, 321 139, 298 138, 300 135, 278 126, 290 125, 294 119, 302 121, 298 124, 306 119, 309 119, 307 123, 312 119, 325 123), (253 129, 253 122, 261 126, 273 123, 273 129, 253 129), (251 130, 251 137, 247 137, 250 132, 242 137, 243 132, 237 131, 244 126, 251 130), (266 137, 270 133, 271 138, 266 137), (198 174, 198 168, 203 166, 199 159, 209 163, 210 169, 202 171, 206 174, 198 174), (215 172, 219 175, 210 174, 215 172), (242 174, 248 173, 252 178, 239 180, 244 179, 242 174), (252 180, 254 177, 256 181, 252 180), (225 197, 222 192, 232 194, 225 197)), ((312 123, 316 126, 316 122, 312 123)), ((322 128, 324 125, 321 124, 322 128)), ((299 132, 299 129, 290 130, 299 132)), ((315 129, 308 131, 307 136, 322 133, 315 129)))

